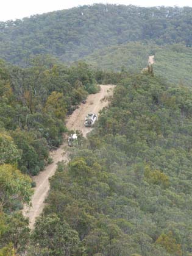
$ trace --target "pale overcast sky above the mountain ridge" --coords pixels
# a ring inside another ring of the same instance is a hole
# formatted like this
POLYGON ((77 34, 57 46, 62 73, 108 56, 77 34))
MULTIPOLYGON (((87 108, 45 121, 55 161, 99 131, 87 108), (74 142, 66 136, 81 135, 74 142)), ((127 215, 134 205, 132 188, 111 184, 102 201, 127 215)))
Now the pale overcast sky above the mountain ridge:
POLYGON ((0 6, 0 21, 15 20, 26 16, 69 9, 78 5, 94 4, 133 4, 140 6, 191 6, 191 0, 5 0, 0 6))

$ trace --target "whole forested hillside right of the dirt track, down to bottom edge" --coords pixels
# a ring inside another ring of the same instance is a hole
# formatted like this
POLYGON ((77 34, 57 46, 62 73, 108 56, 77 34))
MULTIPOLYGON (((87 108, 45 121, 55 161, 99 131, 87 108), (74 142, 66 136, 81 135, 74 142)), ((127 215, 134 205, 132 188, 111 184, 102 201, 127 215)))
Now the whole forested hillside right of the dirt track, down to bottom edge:
POLYGON ((52 177, 29 255, 192 254, 192 91, 122 76, 87 144, 52 177))

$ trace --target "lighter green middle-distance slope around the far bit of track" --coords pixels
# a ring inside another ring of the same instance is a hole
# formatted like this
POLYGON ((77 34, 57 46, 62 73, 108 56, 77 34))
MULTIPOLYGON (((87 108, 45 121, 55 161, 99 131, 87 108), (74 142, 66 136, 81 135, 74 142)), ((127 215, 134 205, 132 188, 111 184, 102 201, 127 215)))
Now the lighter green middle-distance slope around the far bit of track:
POLYGON ((134 73, 147 65, 149 55, 155 55, 155 74, 171 83, 192 85, 192 48, 183 44, 127 43, 96 50, 84 61, 93 68, 120 71, 124 66, 134 73))

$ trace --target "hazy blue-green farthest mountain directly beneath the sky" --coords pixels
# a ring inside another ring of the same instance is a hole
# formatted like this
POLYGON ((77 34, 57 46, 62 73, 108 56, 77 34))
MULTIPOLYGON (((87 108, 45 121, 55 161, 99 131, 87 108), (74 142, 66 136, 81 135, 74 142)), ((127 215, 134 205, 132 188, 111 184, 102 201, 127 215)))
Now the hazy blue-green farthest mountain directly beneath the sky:
POLYGON ((191 8, 84 5, 0 23, 0 58, 27 65, 30 55, 73 62, 95 49, 129 41, 192 42, 191 8))

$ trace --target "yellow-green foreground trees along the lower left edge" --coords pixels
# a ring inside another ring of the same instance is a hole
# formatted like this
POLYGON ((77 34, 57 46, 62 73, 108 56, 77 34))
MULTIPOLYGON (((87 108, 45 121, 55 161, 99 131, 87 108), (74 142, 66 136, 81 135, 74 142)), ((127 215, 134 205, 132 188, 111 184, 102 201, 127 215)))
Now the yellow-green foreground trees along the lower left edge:
MULTIPOLYGON (((12 152, 9 154, 11 155, 12 152)), ((9 162, 8 159, 7 162, 9 162)), ((26 244, 29 243, 29 221, 19 210, 22 207, 21 204, 30 204, 32 193, 29 176, 21 174, 13 165, 0 165, 1 256, 15 256, 26 250, 26 244)))

